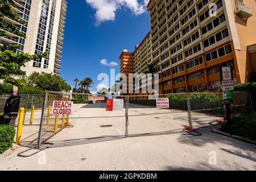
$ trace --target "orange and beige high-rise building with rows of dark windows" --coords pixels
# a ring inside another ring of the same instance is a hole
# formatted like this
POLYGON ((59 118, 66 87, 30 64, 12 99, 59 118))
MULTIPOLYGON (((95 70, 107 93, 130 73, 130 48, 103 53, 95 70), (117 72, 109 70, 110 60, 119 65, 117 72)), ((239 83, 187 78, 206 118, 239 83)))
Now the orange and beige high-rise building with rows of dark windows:
POLYGON ((233 68, 235 83, 255 74, 256 1, 151 0, 147 10, 151 43, 144 39, 134 52, 123 51, 121 73, 143 72, 147 51, 159 93, 216 90, 222 65, 233 68))

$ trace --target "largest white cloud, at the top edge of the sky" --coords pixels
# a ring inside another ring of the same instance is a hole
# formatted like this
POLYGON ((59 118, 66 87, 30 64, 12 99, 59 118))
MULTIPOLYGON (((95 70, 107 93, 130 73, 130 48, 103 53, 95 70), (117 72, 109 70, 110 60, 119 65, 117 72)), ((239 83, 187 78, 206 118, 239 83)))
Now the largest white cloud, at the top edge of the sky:
POLYGON ((143 0, 142 3, 139 3, 138 0, 86 0, 88 5, 96 10, 96 25, 110 20, 113 21, 115 19, 115 11, 122 7, 127 7, 135 15, 141 15, 146 11, 148 1, 143 0))

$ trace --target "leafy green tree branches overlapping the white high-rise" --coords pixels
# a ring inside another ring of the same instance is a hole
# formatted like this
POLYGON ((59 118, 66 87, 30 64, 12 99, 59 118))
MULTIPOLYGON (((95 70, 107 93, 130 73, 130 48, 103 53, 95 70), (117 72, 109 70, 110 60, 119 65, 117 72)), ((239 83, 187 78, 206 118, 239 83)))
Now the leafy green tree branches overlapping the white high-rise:
MULTIPOLYGON (((14 13, 14 11, 11 9, 12 6, 17 7, 13 0, 0 0, 0 27, 8 29, 11 33, 26 39, 26 36, 20 31, 19 26, 3 19, 4 16, 8 16, 20 24, 26 24, 26 22, 24 22, 19 18, 19 16, 16 15, 16 13, 14 13)), ((5 31, 0 31, 0 37, 8 37, 8 35, 5 31)), ((38 59, 40 57, 46 57, 47 52, 40 53, 38 55, 29 55, 28 53, 24 53, 22 51, 17 53, 19 47, 20 46, 18 44, 0 46, 0 79, 3 79, 6 82, 16 86, 24 86, 26 84, 22 82, 22 80, 15 79, 11 77, 10 74, 16 74, 16 67, 24 67, 25 63, 28 61, 38 59)), ((24 72, 19 73, 24 74, 24 72)))

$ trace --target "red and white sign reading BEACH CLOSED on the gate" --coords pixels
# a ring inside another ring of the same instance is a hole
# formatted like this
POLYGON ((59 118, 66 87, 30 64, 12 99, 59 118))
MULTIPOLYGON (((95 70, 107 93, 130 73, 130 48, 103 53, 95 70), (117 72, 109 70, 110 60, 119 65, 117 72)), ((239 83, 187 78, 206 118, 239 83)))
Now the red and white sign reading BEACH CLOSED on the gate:
POLYGON ((72 114, 72 101, 53 101, 51 114, 72 114))

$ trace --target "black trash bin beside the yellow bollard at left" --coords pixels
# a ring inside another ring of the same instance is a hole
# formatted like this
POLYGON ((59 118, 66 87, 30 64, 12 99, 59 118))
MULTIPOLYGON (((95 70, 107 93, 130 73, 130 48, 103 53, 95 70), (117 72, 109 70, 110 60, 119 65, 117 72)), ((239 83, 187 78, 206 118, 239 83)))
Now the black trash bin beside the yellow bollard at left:
POLYGON ((11 95, 5 102, 5 109, 3 111, 2 118, 0 119, 0 125, 13 125, 15 126, 15 120, 19 113, 20 97, 11 95))

